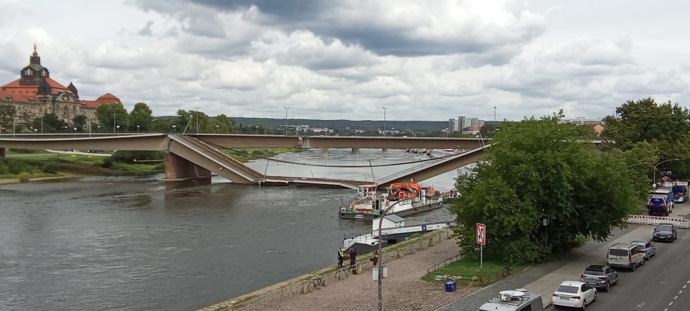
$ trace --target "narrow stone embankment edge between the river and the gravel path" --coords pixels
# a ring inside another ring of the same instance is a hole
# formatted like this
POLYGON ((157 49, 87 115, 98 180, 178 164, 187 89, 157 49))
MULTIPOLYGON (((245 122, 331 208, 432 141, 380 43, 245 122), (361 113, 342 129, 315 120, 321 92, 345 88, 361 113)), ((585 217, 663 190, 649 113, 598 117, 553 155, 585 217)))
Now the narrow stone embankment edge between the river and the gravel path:
MULTIPOLYGON (((420 237, 409 239, 402 243, 397 243, 391 245, 388 248, 384 248, 382 254, 382 261, 387 263, 398 258, 404 257, 406 254, 412 254, 420 250, 424 250, 429 246, 434 245, 440 241, 446 239, 451 239, 453 237, 453 231, 450 229, 435 230, 428 234, 424 234, 420 237)), ((372 266, 369 262, 372 254, 365 254, 359 256, 357 261, 357 271, 362 273, 366 270, 371 270, 372 266)), ((275 285, 270 285, 266 288, 244 294, 233 299, 228 299, 221 303, 216 303, 215 305, 210 305, 206 308, 199 309, 201 311, 226 311, 226 310, 260 310, 262 305, 268 303, 276 303, 282 299, 288 297, 294 297, 299 294, 309 294, 308 282, 315 275, 326 279, 326 283, 338 281, 336 275, 337 266, 330 265, 328 267, 316 270, 309 274, 304 274, 287 281, 277 283, 275 285)))

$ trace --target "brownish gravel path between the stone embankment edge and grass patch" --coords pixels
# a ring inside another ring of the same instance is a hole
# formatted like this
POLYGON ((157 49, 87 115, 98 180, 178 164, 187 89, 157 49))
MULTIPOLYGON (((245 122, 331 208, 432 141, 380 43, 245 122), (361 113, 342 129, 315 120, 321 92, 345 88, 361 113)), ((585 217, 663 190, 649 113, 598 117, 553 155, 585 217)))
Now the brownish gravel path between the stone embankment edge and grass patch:
MULTIPOLYGON (((436 310, 480 288, 458 288, 446 292, 444 284, 422 281, 426 268, 457 254, 455 239, 408 254, 388 263, 388 277, 383 279, 383 310, 436 310)), ((262 310, 377 310, 378 283, 372 281, 371 270, 349 274, 348 279, 332 281, 320 290, 300 294, 262 310)))

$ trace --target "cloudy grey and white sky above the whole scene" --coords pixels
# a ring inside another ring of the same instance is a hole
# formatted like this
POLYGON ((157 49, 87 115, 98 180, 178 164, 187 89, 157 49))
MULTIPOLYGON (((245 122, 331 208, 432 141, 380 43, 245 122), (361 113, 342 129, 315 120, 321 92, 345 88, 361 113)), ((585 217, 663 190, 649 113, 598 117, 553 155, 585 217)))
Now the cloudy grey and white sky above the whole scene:
POLYGON ((690 106, 690 1, 0 0, 0 84, 32 45, 81 99, 212 116, 518 120, 690 106), (494 109, 495 107, 495 109, 494 109))

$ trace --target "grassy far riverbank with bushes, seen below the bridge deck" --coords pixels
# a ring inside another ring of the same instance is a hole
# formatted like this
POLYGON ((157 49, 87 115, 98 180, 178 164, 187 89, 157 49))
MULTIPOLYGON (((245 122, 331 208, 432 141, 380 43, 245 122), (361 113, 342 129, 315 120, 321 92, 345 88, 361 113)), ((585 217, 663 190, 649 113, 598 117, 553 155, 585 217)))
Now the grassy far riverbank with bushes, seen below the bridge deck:
MULTIPOLYGON (((221 150, 242 163, 299 151, 299 148, 221 150)), ((148 176, 165 172, 164 152, 161 151, 103 153, 110 153, 112 157, 57 154, 45 150, 8 150, 5 159, 0 161, 0 184, 88 176, 148 176)))

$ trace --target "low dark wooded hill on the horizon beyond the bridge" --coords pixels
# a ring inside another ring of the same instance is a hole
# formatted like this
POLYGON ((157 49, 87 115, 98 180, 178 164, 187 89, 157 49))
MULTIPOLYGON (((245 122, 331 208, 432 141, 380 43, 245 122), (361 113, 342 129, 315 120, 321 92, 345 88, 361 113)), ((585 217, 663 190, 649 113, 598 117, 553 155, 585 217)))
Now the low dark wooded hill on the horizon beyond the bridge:
MULTIPOLYGON (((235 126, 257 126, 266 128, 281 128, 285 126, 285 119, 269 118, 241 118, 230 117, 235 126)), ((314 120, 314 119, 288 119, 290 126, 309 126, 311 128, 330 128, 345 130, 383 130, 384 122, 381 120, 351 121, 351 120, 314 120)), ((413 130, 417 132, 439 132, 448 128, 448 121, 386 121, 386 130, 413 130)))

